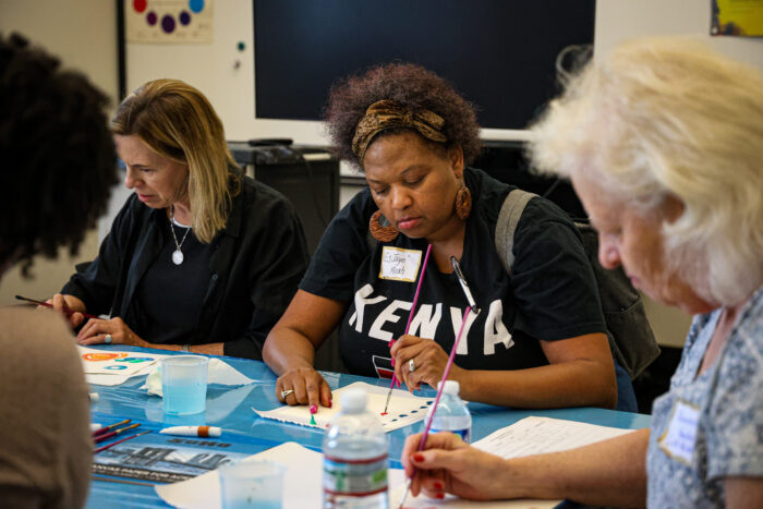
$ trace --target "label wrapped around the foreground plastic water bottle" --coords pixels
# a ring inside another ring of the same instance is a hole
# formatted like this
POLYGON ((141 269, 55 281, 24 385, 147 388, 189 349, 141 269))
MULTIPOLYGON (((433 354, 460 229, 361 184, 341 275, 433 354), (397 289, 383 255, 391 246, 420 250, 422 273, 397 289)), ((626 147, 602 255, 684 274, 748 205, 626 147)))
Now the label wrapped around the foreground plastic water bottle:
POLYGON ((367 460, 324 456, 324 498, 365 497, 387 492, 387 455, 367 460))

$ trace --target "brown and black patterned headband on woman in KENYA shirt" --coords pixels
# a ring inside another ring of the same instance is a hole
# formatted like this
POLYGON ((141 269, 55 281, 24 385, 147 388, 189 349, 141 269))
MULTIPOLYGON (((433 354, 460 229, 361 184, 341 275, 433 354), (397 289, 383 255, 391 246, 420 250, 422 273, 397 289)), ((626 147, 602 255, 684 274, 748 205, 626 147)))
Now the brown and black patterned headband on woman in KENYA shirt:
POLYGON ((371 105, 365 110, 365 116, 358 122, 355 136, 352 138, 352 152, 363 163, 365 150, 374 136, 393 128, 411 128, 427 140, 445 143, 448 138, 443 134, 444 126, 443 117, 433 111, 411 111, 392 100, 379 100, 371 105))

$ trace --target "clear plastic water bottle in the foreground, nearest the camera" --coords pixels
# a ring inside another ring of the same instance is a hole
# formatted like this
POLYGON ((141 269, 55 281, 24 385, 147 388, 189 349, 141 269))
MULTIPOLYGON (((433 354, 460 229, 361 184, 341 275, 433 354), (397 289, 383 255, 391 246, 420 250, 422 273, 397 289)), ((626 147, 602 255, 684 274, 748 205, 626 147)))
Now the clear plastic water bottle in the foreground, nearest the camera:
POLYGON ((324 435, 324 509, 387 509, 387 435, 362 389, 342 395, 324 435))

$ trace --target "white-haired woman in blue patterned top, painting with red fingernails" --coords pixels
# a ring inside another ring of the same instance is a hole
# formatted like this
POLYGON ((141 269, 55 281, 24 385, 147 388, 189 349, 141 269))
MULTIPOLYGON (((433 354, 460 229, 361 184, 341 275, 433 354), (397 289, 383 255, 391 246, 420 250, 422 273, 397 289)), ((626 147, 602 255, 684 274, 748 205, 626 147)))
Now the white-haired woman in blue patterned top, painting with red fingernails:
POLYGON ((681 363, 651 429, 585 448, 505 461, 445 434, 417 453, 412 437, 413 492, 760 507, 763 73, 687 39, 633 41, 534 132, 536 166, 571 178, 598 229, 602 265, 695 315, 681 363))

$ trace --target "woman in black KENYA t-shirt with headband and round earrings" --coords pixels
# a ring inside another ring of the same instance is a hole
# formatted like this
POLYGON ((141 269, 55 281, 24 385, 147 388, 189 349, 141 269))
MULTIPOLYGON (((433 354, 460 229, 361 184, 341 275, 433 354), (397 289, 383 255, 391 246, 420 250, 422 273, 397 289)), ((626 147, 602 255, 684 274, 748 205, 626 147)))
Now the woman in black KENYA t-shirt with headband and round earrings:
POLYGON ((482 310, 468 316, 450 371, 462 398, 615 407, 613 355, 580 237, 550 202, 531 201, 509 277, 493 238, 512 186, 468 167, 480 152, 469 102, 436 74, 395 63, 336 85, 326 119, 340 156, 365 172, 368 189, 331 221, 265 343, 281 401, 331 404, 313 359, 337 326, 351 373, 393 369, 410 390, 436 387, 467 307, 455 257, 482 310), (428 268, 403 336, 427 245, 428 268))

